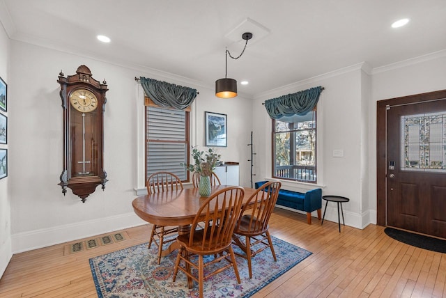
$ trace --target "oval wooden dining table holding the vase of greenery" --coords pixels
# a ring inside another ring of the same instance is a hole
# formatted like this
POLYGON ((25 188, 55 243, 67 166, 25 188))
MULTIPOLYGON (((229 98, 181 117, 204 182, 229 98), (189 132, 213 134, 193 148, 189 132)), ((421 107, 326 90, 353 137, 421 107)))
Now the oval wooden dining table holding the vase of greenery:
MULTIPOLYGON (((210 196, 215 191, 226 187, 231 187, 231 185, 213 185, 210 196)), ((243 187, 243 189, 245 194, 242 206, 246 205, 249 198, 256 193, 256 189, 249 187, 243 187)), ((192 221, 207 198, 200 196, 199 189, 194 187, 139 196, 132 201, 132 206, 134 213, 144 221, 160 226, 178 226, 178 234, 185 234, 189 233, 192 221)), ((203 219, 205 216, 203 214, 203 219)), ((167 256, 178 248, 178 242, 174 241, 162 251, 161 256, 167 256)))

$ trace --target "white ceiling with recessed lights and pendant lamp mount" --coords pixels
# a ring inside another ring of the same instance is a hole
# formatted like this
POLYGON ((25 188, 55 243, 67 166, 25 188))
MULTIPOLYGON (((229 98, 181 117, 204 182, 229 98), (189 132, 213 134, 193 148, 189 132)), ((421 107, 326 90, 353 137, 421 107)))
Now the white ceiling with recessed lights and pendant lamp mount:
MULTIPOLYGON (((252 97, 357 63, 378 68, 446 49, 445 0, 0 0, 13 40, 252 97), (410 22, 392 29, 392 22, 410 22), (112 39, 104 44, 98 34, 112 39)), ((135 71, 136 72, 136 71, 135 71)), ((139 73, 134 74, 139 77, 139 73)))

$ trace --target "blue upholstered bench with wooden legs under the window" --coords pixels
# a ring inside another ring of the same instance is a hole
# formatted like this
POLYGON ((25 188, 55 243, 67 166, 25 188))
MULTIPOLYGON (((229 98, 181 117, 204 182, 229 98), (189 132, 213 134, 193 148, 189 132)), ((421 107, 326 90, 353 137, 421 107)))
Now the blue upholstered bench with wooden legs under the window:
MULTIPOLYGON (((268 181, 256 182, 256 189, 264 185, 268 181)), ((282 205, 295 210, 307 212, 307 224, 312 224, 312 212, 318 212, 318 219, 321 219, 322 208, 322 189, 312 189, 301 193, 286 189, 279 190, 276 205, 282 205)))

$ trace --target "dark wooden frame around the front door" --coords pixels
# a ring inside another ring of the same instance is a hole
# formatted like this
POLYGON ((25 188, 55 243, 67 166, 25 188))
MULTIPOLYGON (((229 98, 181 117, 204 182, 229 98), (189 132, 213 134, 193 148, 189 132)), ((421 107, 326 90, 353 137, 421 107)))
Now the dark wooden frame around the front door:
POLYGON ((427 102, 446 98, 446 90, 420 93, 403 97, 390 98, 388 100, 378 100, 376 102, 376 224, 386 225, 386 110, 387 106, 397 104, 410 104, 417 102, 427 102))

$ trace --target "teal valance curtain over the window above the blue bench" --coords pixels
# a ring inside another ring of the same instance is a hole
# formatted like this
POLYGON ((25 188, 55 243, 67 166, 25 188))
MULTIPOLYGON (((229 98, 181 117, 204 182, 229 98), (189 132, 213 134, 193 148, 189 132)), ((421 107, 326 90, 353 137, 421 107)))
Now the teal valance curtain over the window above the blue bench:
POLYGON ((319 100, 323 87, 318 86, 292 94, 266 100, 265 108, 273 119, 283 116, 305 115, 312 111, 319 100))

